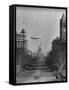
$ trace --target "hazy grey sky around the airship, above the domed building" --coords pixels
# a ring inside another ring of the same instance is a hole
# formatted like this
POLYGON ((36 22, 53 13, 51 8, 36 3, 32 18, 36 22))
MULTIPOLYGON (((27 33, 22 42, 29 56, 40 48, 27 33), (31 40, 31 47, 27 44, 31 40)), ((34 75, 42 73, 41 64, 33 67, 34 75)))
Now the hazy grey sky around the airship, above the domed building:
POLYGON ((50 8, 16 8, 16 31, 25 29, 27 46, 32 52, 37 52, 41 44, 42 52, 47 54, 52 47, 52 41, 60 36, 60 19, 65 13, 64 9, 50 8), (40 39, 34 40, 33 37, 40 39))

